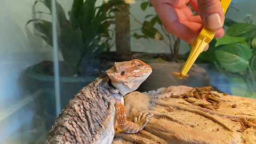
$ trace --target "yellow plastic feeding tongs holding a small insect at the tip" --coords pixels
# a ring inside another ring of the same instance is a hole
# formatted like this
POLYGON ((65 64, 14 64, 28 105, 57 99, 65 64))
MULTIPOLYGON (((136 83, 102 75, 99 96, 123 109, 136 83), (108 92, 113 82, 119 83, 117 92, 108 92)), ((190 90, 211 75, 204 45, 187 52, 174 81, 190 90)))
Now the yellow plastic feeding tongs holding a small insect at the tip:
MULTIPOLYGON (((225 14, 229 4, 231 3, 231 0, 221 0, 220 3, 221 3, 223 13, 225 14)), ((204 27, 199 33, 199 35, 197 36, 197 38, 195 39, 194 43, 192 44, 192 49, 189 54, 189 57, 185 65, 181 69, 180 73, 173 73, 173 74, 177 75, 180 79, 182 79, 183 77, 188 77, 187 75, 188 70, 196 61, 199 54, 203 52, 204 47, 212 41, 214 35, 215 35, 215 31, 212 31, 204 27)))

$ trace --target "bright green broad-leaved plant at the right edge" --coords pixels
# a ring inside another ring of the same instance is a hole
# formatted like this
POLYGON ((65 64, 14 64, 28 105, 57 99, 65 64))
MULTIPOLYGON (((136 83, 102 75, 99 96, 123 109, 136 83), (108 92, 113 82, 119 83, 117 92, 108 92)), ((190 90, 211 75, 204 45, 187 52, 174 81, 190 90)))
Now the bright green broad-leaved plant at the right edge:
POLYGON ((225 36, 213 39, 198 60, 214 63, 228 78, 232 94, 256 98, 256 25, 225 23, 225 36))

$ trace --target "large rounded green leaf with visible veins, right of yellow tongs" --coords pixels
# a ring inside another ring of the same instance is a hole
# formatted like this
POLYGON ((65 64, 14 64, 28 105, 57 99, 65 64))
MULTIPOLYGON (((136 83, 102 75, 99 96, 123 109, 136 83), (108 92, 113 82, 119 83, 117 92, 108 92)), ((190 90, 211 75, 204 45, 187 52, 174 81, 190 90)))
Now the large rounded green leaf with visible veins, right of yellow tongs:
POLYGON ((215 51, 215 56, 223 68, 232 73, 238 73, 248 67, 252 51, 246 45, 227 44, 220 46, 215 51))

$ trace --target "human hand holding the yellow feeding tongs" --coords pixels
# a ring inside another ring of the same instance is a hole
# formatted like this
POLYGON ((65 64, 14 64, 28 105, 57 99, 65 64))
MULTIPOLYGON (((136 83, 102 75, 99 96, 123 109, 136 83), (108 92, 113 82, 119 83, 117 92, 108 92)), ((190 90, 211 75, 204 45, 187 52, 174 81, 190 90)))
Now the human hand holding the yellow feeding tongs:
MULTIPOLYGON (((225 34, 222 28, 225 16, 220 0, 150 0, 150 2, 165 30, 187 43, 194 42, 203 26, 216 31, 215 37, 222 37, 225 34), (199 15, 193 15, 187 4, 199 12, 199 15)), ((207 49, 208 46, 205 50, 207 49)))

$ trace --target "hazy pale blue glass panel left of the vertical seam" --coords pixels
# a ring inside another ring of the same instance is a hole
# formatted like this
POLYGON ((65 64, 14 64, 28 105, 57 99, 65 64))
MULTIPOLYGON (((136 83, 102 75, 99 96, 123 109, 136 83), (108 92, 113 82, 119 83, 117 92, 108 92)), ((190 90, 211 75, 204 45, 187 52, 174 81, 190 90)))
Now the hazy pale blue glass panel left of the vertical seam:
POLYGON ((42 5, 33 7, 34 3, 2 1, 0 5, 0 143, 41 143, 50 127, 45 119, 55 116, 44 113, 50 103, 55 111, 54 101, 42 101, 47 93, 54 99, 54 85, 51 91, 44 83, 34 83, 35 75, 29 71, 41 61, 53 60, 52 47, 38 35, 33 22, 26 25, 36 18, 35 9, 45 10, 42 5))

